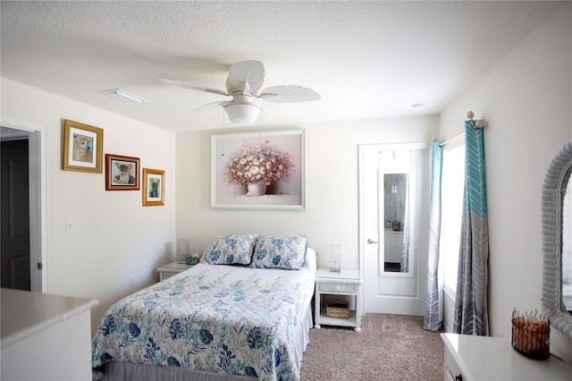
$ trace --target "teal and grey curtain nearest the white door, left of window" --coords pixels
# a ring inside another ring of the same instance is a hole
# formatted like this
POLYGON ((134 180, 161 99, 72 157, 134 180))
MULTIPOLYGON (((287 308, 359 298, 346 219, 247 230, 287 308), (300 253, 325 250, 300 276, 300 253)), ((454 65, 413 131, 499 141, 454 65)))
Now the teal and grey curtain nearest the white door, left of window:
POLYGON ((443 323, 443 282, 439 274, 439 239, 441 236, 441 179, 443 148, 433 140, 431 149, 431 206, 429 220, 429 252, 427 288, 425 291, 425 318, 423 327, 438 331, 443 323))

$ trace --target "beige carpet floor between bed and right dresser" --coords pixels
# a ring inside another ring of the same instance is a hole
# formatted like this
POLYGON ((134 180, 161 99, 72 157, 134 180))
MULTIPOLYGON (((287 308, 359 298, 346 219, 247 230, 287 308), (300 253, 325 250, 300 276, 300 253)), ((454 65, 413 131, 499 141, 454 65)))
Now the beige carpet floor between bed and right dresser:
POLYGON ((422 317, 366 314, 351 328, 310 329, 301 381, 442 380, 443 343, 422 317))

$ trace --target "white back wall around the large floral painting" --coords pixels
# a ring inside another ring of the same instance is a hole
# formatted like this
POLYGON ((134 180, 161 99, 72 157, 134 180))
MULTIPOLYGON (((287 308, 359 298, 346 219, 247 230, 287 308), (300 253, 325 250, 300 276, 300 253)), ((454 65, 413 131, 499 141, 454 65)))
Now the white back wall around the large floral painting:
POLYGON ((177 237, 190 238, 202 252, 215 235, 307 234, 328 266, 331 242, 341 243, 342 267, 358 268, 359 144, 429 142, 438 118, 420 116, 374 121, 316 123, 307 129, 307 211, 210 208, 210 137, 213 132, 177 134, 177 237))

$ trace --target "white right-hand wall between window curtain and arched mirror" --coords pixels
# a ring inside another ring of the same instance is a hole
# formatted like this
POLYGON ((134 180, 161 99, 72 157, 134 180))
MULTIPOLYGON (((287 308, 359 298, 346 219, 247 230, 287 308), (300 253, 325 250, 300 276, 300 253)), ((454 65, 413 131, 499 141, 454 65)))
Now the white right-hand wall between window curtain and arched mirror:
MULTIPOLYGON (((478 118, 484 113, 488 122, 489 316, 495 335, 510 337, 512 309, 541 310, 541 189, 552 157, 572 137, 571 56, 567 3, 441 115, 442 139, 463 131, 468 110, 478 118)), ((551 350, 572 362, 572 343, 555 329, 551 350)))

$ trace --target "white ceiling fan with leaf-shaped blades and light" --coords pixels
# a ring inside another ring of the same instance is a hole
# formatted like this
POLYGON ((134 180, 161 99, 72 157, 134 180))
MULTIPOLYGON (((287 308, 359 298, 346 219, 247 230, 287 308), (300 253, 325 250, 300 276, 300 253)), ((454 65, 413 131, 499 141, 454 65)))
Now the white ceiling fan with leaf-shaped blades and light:
POLYGON ((195 111, 205 110, 212 106, 223 106, 231 123, 236 124, 254 123, 257 120, 261 110, 256 102, 257 98, 273 103, 308 102, 320 99, 319 94, 313 89, 296 85, 273 86, 260 91, 265 81, 265 66, 260 61, 253 60, 240 61, 231 65, 229 76, 226 79, 226 91, 195 85, 183 80, 161 80, 169 85, 181 86, 185 89, 232 97, 231 100, 200 106, 195 111))

